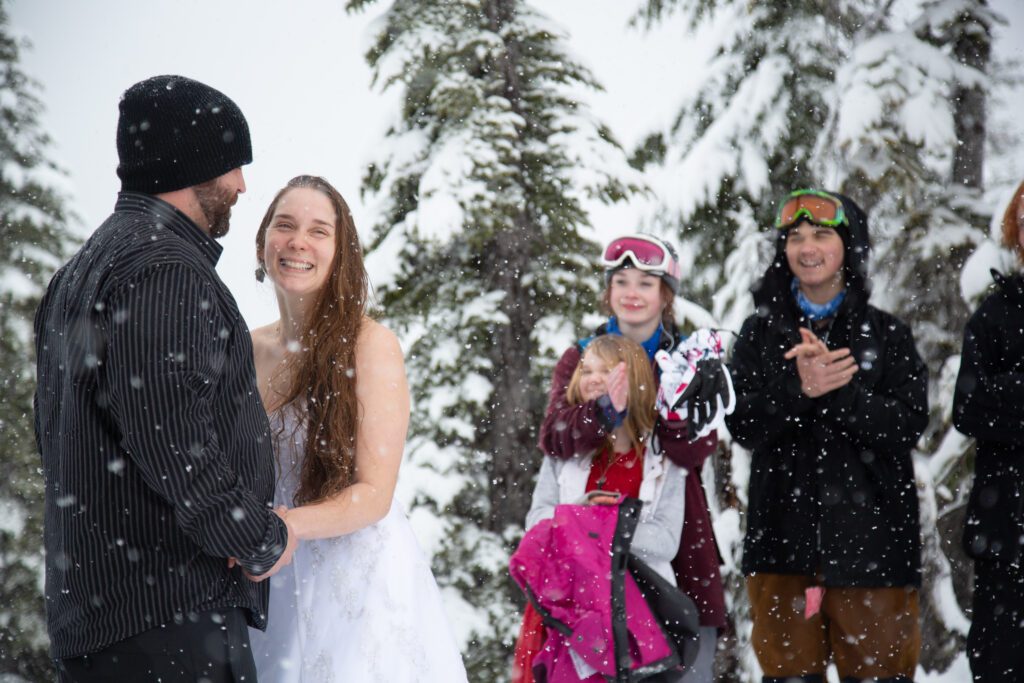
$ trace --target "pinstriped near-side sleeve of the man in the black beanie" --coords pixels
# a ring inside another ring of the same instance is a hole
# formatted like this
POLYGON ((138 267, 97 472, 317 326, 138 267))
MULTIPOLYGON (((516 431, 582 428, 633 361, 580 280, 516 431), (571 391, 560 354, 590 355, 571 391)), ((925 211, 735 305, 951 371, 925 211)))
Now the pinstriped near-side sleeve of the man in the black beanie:
POLYGON ((284 522, 239 479, 210 418, 231 326, 183 264, 147 268, 106 300, 105 386, 121 444, 182 530, 215 557, 266 571, 284 522))

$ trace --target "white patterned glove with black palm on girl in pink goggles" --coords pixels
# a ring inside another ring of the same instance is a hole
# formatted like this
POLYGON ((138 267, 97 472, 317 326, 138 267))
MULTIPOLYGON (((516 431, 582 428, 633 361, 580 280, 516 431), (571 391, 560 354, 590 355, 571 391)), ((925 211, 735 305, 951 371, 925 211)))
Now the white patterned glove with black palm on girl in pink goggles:
POLYGON ((666 420, 689 420, 691 440, 721 427, 736 405, 723 354, 721 337, 706 329, 690 335, 671 355, 654 354, 662 369, 658 414, 666 420))

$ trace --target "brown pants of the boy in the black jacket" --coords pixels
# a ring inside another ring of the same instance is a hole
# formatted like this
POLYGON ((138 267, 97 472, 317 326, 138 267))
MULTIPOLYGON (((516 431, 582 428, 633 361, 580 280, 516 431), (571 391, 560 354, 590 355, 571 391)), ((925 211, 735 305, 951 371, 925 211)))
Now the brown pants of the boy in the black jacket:
POLYGON ((913 588, 826 588, 821 610, 804 617, 810 577, 754 573, 746 578, 751 640, 765 676, 825 673, 840 678, 912 679, 921 650, 913 588))

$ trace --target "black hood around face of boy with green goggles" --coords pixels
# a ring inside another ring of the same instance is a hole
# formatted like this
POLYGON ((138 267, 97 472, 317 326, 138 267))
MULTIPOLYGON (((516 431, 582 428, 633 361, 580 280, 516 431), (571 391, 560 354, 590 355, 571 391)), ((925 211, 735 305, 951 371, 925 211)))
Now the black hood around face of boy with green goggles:
MULTIPOLYGON (((843 271, 846 279, 845 306, 857 306, 867 302, 871 283, 867 278, 867 259, 870 252, 870 241, 867 237, 867 214, 857 206, 857 203, 845 195, 828 191, 829 195, 843 202, 848 225, 841 225, 836 231, 843 238, 843 271)), ((793 270, 785 259, 786 230, 775 230, 775 258, 765 270, 765 274, 755 283, 751 290, 754 294, 754 304, 759 309, 769 309, 782 306, 792 298, 791 283, 793 270)))

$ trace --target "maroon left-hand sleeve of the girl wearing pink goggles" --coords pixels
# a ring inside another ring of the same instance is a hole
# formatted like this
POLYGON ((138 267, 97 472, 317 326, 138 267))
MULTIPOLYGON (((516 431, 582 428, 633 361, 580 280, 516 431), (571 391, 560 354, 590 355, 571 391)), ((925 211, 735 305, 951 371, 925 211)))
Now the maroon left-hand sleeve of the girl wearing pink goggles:
POLYGON ((565 399, 572 373, 582 354, 574 345, 555 366, 548 392, 548 410, 541 425, 538 445, 547 456, 571 458, 599 449, 615 428, 618 416, 607 395, 569 405, 565 399))

